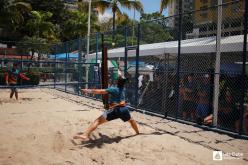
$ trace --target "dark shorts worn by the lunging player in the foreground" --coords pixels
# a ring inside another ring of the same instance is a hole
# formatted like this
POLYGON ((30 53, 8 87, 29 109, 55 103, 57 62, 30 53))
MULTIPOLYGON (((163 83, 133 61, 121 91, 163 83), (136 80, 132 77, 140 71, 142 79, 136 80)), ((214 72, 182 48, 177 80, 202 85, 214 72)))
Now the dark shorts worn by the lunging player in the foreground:
POLYGON ((120 118, 122 121, 126 122, 131 119, 128 107, 115 107, 112 110, 106 110, 103 114, 106 120, 111 121, 120 118))

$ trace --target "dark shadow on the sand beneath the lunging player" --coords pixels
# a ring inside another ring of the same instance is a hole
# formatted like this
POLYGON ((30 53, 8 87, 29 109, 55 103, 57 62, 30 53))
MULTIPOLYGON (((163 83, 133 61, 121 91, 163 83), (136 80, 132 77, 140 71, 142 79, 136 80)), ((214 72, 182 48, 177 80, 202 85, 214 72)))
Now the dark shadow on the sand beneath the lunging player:
POLYGON ((132 138, 135 136, 141 136, 141 135, 162 135, 161 132, 152 132, 152 133, 140 133, 139 135, 129 135, 129 136, 116 136, 116 137, 108 137, 107 135, 99 134, 99 138, 97 139, 90 139, 86 142, 76 143, 74 140, 71 140, 71 142, 78 146, 80 149, 87 147, 87 148, 102 148, 104 144, 112 144, 112 143, 119 143, 123 139, 132 138))

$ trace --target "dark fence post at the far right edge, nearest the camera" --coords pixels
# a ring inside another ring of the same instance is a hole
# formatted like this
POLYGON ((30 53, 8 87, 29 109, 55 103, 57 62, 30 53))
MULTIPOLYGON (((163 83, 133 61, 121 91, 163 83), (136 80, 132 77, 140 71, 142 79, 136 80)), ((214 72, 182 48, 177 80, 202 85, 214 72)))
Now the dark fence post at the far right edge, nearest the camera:
POLYGON ((240 119, 240 127, 239 127, 239 134, 242 134, 243 130, 243 118, 244 118, 244 99, 245 99, 245 90, 246 90, 246 53, 247 53, 247 19, 248 17, 248 2, 245 1, 245 13, 244 13, 244 42, 243 42, 243 64, 242 64, 242 89, 241 89, 241 119, 240 119))

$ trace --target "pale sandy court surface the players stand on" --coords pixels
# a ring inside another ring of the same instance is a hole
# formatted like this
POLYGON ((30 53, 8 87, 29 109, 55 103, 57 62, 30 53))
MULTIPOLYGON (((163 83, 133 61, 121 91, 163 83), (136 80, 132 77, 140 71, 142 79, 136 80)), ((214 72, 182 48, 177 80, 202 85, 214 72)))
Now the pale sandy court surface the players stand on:
POLYGON ((248 164, 248 141, 132 112, 135 136, 121 120, 100 126, 89 142, 72 141, 102 112, 102 103, 53 89, 20 89, 19 101, 0 91, 0 164, 209 165, 248 164), (213 160, 213 151, 242 153, 213 160), (238 159, 239 158, 239 159, 238 159))

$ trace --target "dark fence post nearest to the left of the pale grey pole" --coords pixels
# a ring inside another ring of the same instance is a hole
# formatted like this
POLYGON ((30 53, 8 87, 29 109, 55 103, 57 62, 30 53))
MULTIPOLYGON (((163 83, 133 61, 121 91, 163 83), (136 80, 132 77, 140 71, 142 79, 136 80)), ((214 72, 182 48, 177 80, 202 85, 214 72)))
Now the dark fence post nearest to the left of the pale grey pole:
POLYGON ((179 23, 178 23, 178 55, 177 55, 177 73, 176 73, 176 119, 179 111, 179 85, 180 85, 180 64, 181 64, 181 39, 182 39, 182 0, 179 0, 179 23))

